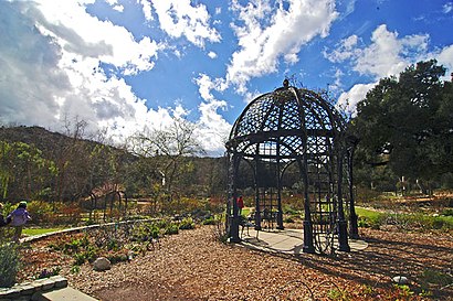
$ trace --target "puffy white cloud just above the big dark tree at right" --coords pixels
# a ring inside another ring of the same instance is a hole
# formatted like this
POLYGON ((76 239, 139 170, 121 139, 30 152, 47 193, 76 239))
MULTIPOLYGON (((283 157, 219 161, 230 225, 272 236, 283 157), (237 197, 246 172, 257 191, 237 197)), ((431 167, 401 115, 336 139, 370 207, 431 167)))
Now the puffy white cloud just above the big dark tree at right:
POLYGON ((372 83, 357 84, 340 95, 338 105, 348 107, 352 114, 356 104, 365 98, 379 78, 398 75, 410 64, 436 58, 440 64, 453 69, 453 45, 429 52, 428 34, 399 37, 397 32, 389 31, 387 25, 382 24, 372 32, 369 45, 360 47, 357 41, 357 36, 351 35, 341 41, 336 50, 325 52, 325 57, 330 62, 350 62, 354 71, 372 78, 372 83))

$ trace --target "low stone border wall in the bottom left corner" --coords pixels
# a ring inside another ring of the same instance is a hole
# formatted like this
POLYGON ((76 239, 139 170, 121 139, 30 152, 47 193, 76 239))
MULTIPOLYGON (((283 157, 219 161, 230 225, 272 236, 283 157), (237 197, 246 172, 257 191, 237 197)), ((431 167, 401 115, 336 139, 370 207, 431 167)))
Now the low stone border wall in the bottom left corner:
POLYGON ((0 301, 35 300, 36 293, 59 290, 67 287, 67 279, 62 276, 38 279, 32 282, 14 284, 12 288, 0 288, 0 301))

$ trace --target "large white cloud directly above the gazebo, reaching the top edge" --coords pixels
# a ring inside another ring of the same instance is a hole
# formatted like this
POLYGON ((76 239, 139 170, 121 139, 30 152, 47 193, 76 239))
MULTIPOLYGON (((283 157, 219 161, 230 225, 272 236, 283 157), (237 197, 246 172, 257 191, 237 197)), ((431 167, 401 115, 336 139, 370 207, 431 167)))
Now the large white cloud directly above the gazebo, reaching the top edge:
POLYGON ((319 35, 325 37, 338 17, 331 0, 289 0, 288 10, 282 2, 271 7, 268 0, 253 0, 241 6, 233 0, 232 10, 240 24, 232 24, 240 49, 233 53, 227 79, 246 93, 253 77, 276 72, 283 57, 287 64, 297 62, 301 46, 319 35))

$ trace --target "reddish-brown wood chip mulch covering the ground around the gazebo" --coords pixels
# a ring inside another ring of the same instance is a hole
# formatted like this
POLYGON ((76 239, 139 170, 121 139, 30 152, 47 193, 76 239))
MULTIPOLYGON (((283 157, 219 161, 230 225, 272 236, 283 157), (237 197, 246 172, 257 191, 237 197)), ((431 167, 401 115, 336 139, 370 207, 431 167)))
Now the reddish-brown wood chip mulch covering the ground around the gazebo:
POLYGON ((452 286, 423 280, 426 270, 452 273, 451 235, 367 228, 360 235, 369 244, 365 250, 295 257, 225 245, 213 226, 202 226, 166 236, 154 250, 104 272, 88 264, 71 271, 73 259, 51 250, 50 237, 23 251, 20 280, 59 267, 71 287, 103 301, 453 300, 452 286), (409 292, 392 284, 394 276, 409 279, 409 292), (431 295, 423 293, 422 280, 431 295))

